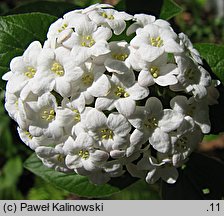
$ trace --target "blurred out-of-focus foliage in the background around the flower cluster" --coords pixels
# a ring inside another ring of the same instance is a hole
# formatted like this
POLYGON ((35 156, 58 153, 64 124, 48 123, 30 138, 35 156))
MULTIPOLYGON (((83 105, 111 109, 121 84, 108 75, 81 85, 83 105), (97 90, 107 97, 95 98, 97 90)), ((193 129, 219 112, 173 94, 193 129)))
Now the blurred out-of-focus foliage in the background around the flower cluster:
MULTIPOLYGON (((26 4, 31 4, 32 2, 34 1, 1 0, 0 15, 19 13, 22 10, 26 11, 24 9, 26 4)), ((158 13, 156 5, 154 11, 151 11, 151 7, 147 9, 149 2, 157 2, 157 6, 158 4, 161 6, 161 1, 151 0, 141 0, 142 4, 139 4, 139 1, 134 1, 136 5, 139 5, 139 8, 135 7, 133 1, 131 4, 128 0, 57 0, 57 2, 66 2, 68 10, 72 10, 73 5, 76 5, 76 7, 87 7, 91 4, 103 2, 116 5, 117 9, 126 9, 130 13, 135 13, 136 9, 144 9, 142 12, 148 12, 149 14, 158 13)), ((183 8, 182 13, 170 20, 176 31, 185 32, 193 42, 223 44, 224 14, 222 11, 224 11, 224 8, 222 5, 222 10, 220 11, 221 6, 217 6, 218 0, 176 0, 175 2, 183 8)), ((221 2, 223 3, 224 1, 221 0, 221 2)), ((35 7, 38 10, 38 7, 35 7)), ((54 11, 52 13, 54 14, 54 11)), ((59 14, 59 12, 55 11, 55 14, 59 14)), ((55 188, 23 168, 23 162, 32 151, 20 141, 16 127, 15 122, 5 112, 4 89, 0 89, 0 199, 83 199, 67 191, 55 188)), ((201 145, 202 151, 208 151, 206 149, 208 145, 205 143, 211 142, 210 139, 211 137, 207 137, 207 140, 201 145)), ((221 146, 220 148, 224 148, 224 139, 222 137, 218 141, 217 136, 214 136, 212 140, 214 139, 216 141, 213 141, 213 147, 219 145, 221 146)), ((140 180, 122 192, 105 199, 160 199, 159 188, 160 183, 148 185, 140 180)))

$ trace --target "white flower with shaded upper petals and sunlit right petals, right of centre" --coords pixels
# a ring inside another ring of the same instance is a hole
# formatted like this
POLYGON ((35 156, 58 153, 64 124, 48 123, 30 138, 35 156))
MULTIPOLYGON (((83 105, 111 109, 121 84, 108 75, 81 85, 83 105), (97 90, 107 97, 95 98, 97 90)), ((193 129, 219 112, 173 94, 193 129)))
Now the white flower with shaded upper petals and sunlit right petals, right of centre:
POLYGON ((156 97, 150 97, 145 107, 136 107, 136 112, 130 116, 130 123, 137 128, 135 136, 143 136, 158 152, 166 153, 171 148, 171 131, 176 130, 183 121, 180 112, 163 109, 162 103, 156 97))

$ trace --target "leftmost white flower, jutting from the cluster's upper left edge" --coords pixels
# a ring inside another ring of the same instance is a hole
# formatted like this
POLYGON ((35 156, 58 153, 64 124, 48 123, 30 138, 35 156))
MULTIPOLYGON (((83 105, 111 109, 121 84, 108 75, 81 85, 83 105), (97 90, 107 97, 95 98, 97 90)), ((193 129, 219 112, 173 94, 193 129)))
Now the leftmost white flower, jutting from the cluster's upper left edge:
POLYGON ((12 59, 10 72, 2 79, 7 80, 6 91, 12 94, 20 93, 23 87, 35 76, 37 71, 37 60, 42 51, 40 42, 32 42, 22 56, 12 59))

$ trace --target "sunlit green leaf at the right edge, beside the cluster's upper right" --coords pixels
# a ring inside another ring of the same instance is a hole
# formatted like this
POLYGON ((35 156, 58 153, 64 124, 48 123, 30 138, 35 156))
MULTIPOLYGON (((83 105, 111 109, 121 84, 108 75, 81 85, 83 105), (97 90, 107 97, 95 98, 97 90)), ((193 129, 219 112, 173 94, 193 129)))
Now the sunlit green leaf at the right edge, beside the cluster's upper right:
POLYGON ((218 44, 198 43, 194 45, 213 73, 224 84, 224 46, 218 44))

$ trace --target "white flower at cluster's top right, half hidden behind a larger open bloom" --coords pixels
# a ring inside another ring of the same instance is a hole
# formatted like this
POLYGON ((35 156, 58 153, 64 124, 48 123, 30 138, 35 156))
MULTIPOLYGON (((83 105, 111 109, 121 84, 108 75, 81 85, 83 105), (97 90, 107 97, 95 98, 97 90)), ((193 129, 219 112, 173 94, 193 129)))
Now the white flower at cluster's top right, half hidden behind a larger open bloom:
POLYGON ((138 28, 143 28, 148 24, 155 24, 161 26, 163 28, 170 28, 170 24, 162 19, 157 19, 155 16, 148 15, 148 14, 135 14, 134 19, 135 22, 131 24, 127 29, 127 35, 131 35, 134 33, 138 28))

